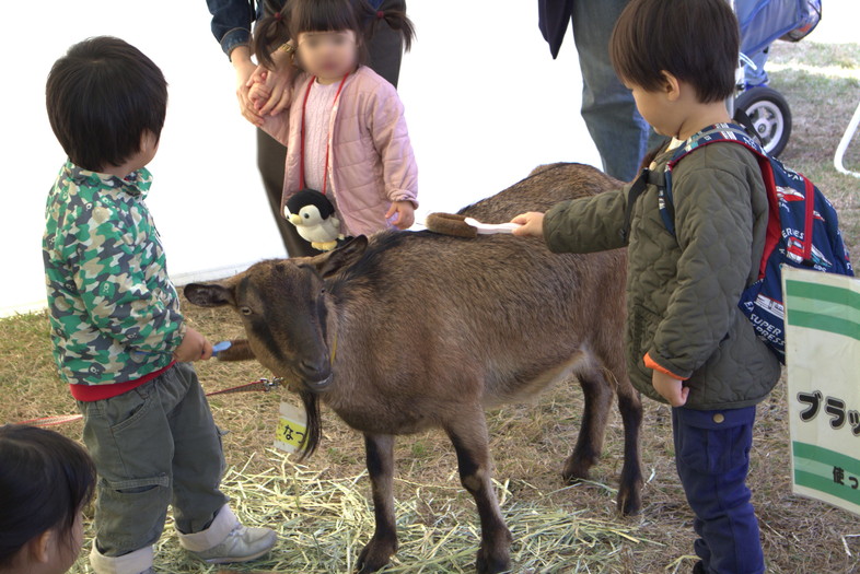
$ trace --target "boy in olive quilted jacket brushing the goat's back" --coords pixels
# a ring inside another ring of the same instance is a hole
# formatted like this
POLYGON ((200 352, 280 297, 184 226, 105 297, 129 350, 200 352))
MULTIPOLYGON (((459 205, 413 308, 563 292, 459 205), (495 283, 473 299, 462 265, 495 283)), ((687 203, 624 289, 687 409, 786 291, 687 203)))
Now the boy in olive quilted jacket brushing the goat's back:
MULTIPOLYGON (((616 72, 642 116, 678 145, 730 121, 739 27, 724 0, 634 0, 611 42, 616 72)), ((631 185, 631 184, 630 184, 631 185)), ((698 573, 762 573, 758 523, 745 484, 755 405, 779 379, 779 363, 737 307, 757 279, 767 195, 756 157, 735 143, 689 154, 673 171, 675 235, 658 188, 630 208, 630 185, 513 219, 521 236, 556 253, 628 247, 625 344, 636 387, 672 405, 678 476, 699 536, 698 573), (626 239, 625 239, 626 238, 626 239)))

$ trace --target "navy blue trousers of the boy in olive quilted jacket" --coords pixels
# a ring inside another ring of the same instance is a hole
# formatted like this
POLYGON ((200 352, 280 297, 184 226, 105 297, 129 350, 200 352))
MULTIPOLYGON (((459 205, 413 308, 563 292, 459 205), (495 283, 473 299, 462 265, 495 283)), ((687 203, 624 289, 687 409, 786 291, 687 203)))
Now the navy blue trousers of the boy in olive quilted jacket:
POLYGON ((765 571, 758 520, 746 487, 754 421, 755 407, 672 409, 675 462, 699 535, 694 548, 708 573, 765 571))

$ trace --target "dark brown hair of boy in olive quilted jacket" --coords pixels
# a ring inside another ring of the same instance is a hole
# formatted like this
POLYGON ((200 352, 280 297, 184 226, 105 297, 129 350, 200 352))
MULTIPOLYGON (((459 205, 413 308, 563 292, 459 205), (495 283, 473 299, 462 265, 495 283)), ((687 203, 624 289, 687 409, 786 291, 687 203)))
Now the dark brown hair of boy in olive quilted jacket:
POLYGON ((740 30, 727 0, 632 0, 609 40, 618 77, 659 91, 663 71, 709 104, 734 93, 740 30))

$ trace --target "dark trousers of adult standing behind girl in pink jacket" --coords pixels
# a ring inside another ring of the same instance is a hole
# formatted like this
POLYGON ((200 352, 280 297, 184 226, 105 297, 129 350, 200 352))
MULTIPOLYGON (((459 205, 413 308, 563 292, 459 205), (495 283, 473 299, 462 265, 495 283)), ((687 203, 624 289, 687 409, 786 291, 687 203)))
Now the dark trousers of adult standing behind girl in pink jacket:
MULTIPOLYGON (((385 0, 383 9, 406 10, 405 0, 385 0)), ((400 75, 403 43, 397 32, 386 25, 380 25, 368 46, 370 50, 370 68, 385 78, 395 87, 400 75)), ((278 143, 265 131, 257 129, 257 168, 263 176, 263 186, 269 199, 269 207, 283 246, 290 257, 309 257, 318 255, 295 231, 295 226, 283 218, 281 196, 283 195, 283 166, 287 162, 287 148, 278 143)))

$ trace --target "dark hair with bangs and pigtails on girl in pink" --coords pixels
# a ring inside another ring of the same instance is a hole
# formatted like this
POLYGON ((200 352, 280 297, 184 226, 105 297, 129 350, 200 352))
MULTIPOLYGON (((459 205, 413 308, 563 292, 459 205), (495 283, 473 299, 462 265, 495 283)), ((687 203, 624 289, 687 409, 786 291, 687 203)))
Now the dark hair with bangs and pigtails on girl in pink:
POLYGON ((288 0, 275 15, 259 21, 254 31, 257 60, 272 68, 271 52, 302 32, 341 32, 351 30, 359 44, 359 63, 369 60, 368 42, 382 21, 400 33, 408 51, 415 30, 403 10, 374 10, 367 0, 288 0))

